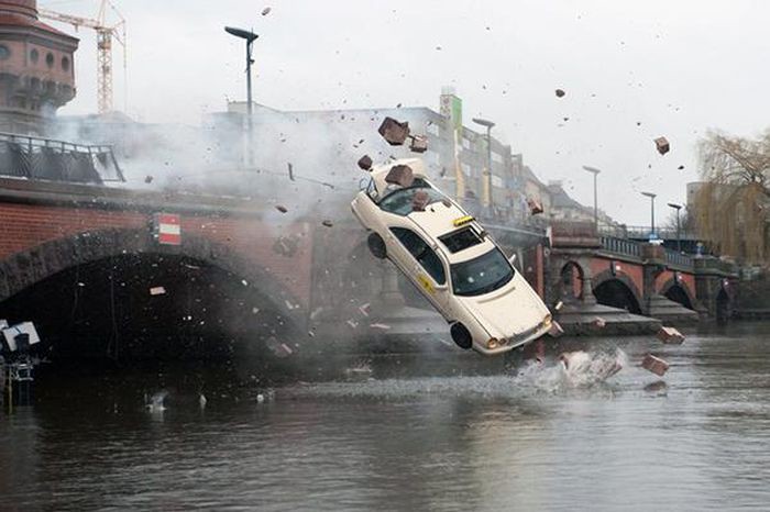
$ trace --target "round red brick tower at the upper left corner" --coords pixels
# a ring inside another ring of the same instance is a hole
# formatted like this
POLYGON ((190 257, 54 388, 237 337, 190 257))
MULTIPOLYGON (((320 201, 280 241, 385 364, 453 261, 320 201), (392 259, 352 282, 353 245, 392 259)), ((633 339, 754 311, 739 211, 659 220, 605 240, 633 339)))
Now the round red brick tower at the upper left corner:
POLYGON ((0 0, 0 131, 44 134, 75 98, 78 40, 37 18, 36 0, 0 0))

